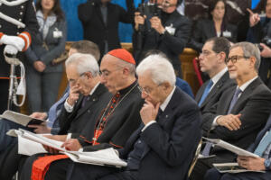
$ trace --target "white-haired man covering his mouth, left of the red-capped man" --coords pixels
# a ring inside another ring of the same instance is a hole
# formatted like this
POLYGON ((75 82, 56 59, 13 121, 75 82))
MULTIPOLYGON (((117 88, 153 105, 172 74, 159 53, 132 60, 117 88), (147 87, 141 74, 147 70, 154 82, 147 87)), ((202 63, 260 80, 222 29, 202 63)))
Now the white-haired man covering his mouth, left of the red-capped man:
MULTIPOLYGON (((66 141, 70 137, 77 137, 89 121, 98 118, 98 112, 108 102, 110 94, 107 88, 100 84, 97 59, 89 54, 74 53, 66 60, 66 74, 70 84, 70 94, 64 103, 59 117, 62 135, 48 136, 51 139, 66 141), (64 132, 66 132, 64 134, 64 132), (67 132, 70 134, 67 135, 67 132)), ((67 144, 66 144, 67 145, 67 144)), ((66 147, 66 146, 64 146, 66 147)), ((55 150, 45 147, 48 152, 55 150)), ((66 147, 69 149, 69 145, 66 147)), ((0 157, 0 164, 4 165, 0 170, 0 179, 10 179, 18 168, 17 144, 5 150, 0 157)), ((31 170, 31 169, 30 169, 31 170)))

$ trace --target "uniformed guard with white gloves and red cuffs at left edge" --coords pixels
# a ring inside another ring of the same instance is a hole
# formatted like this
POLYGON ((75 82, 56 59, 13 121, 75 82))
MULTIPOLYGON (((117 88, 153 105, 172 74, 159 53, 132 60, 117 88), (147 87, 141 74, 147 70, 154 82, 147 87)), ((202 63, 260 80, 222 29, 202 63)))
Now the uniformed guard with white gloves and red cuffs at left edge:
MULTIPOLYGON (((5 62, 4 52, 16 55, 18 51, 27 49, 31 36, 38 30, 38 24, 34 17, 33 0, 17 1, 13 6, 8 4, 14 1, 0 0, 0 3, 0 12, 14 20, 11 22, 11 19, 0 18, 0 113, 3 113, 7 107, 10 74, 10 65, 5 62)), ((19 53, 17 58, 21 59, 22 54, 19 53)))

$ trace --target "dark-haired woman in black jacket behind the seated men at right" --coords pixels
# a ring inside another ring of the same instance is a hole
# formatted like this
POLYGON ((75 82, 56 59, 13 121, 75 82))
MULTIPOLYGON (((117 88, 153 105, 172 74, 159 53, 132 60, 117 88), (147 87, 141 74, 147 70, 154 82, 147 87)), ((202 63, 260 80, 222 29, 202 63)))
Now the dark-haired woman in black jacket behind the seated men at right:
POLYGON ((227 23, 226 2, 224 0, 211 0, 209 6, 209 19, 196 23, 189 46, 201 52, 203 44, 212 37, 225 37, 231 42, 237 40, 237 27, 227 23))

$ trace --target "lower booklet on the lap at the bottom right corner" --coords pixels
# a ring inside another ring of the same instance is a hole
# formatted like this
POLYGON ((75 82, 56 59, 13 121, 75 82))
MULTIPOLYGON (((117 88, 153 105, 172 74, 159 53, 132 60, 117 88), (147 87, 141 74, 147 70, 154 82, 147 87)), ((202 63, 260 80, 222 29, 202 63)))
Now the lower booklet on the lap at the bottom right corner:
POLYGON ((257 172, 257 173, 265 173, 265 171, 252 171, 245 169, 242 166, 238 166, 238 163, 220 163, 220 164, 212 164, 220 173, 246 173, 246 172, 257 172))

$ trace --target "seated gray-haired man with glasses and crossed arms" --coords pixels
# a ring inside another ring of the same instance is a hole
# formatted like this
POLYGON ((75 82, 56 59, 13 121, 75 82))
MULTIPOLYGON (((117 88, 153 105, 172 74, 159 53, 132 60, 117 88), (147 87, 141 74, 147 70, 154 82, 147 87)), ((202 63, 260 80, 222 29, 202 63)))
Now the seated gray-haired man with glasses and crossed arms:
MULTIPOLYGON (((238 85, 226 90, 220 102, 203 114, 203 133, 206 137, 248 148, 265 126, 271 111, 271 91, 257 76, 259 54, 259 49, 249 42, 240 42, 230 48, 226 64, 229 77, 235 79, 238 85)), ((235 155, 228 150, 211 148, 210 143, 203 148, 202 154, 216 157, 198 160, 192 173, 193 180, 202 179, 212 163, 235 159, 235 155)))

